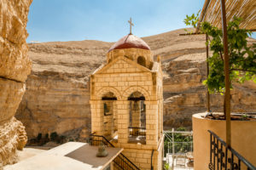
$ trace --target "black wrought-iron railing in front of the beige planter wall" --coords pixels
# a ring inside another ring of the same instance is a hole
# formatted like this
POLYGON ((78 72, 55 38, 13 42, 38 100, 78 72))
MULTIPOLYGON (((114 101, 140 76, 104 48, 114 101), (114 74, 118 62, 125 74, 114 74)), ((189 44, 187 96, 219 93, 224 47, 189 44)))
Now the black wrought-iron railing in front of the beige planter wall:
POLYGON ((217 134, 208 130, 210 133, 210 163, 209 169, 230 169, 230 170, 256 170, 249 161, 243 156, 233 150, 231 147, 227 147, 227 144, 223 139, 220 139, 217 134))

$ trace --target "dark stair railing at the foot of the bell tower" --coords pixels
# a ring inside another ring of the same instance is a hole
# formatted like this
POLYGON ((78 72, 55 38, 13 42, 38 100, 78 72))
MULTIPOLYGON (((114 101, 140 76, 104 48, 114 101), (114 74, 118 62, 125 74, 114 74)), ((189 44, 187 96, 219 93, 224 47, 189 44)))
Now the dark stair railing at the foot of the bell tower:
MULTIPOLYGON (((99 145, 99 144, 105 144, 108 147, 113 147, 114 145, 111 144, 111 142, 108 141, 104 136, 96 135, 96 134, 90 134, 90 144, 91 145, 99 145)), ((140 170, 134 163, 132 163, 126 156, 124 156, 122 153, 119 154, 116 158, 114 158, 113 163, 117 169, 122 170, 140 170)))

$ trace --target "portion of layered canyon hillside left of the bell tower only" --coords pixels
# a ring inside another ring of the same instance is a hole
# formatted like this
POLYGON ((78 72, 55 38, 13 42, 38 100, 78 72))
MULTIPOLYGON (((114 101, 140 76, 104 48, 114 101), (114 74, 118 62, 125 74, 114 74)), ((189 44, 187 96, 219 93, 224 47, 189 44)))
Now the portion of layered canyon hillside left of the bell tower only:
POLYGON ((32 74, 16 117, 34 138, 90 128, 89 75, 105 61, 108 42, 30 44, 32 74))

